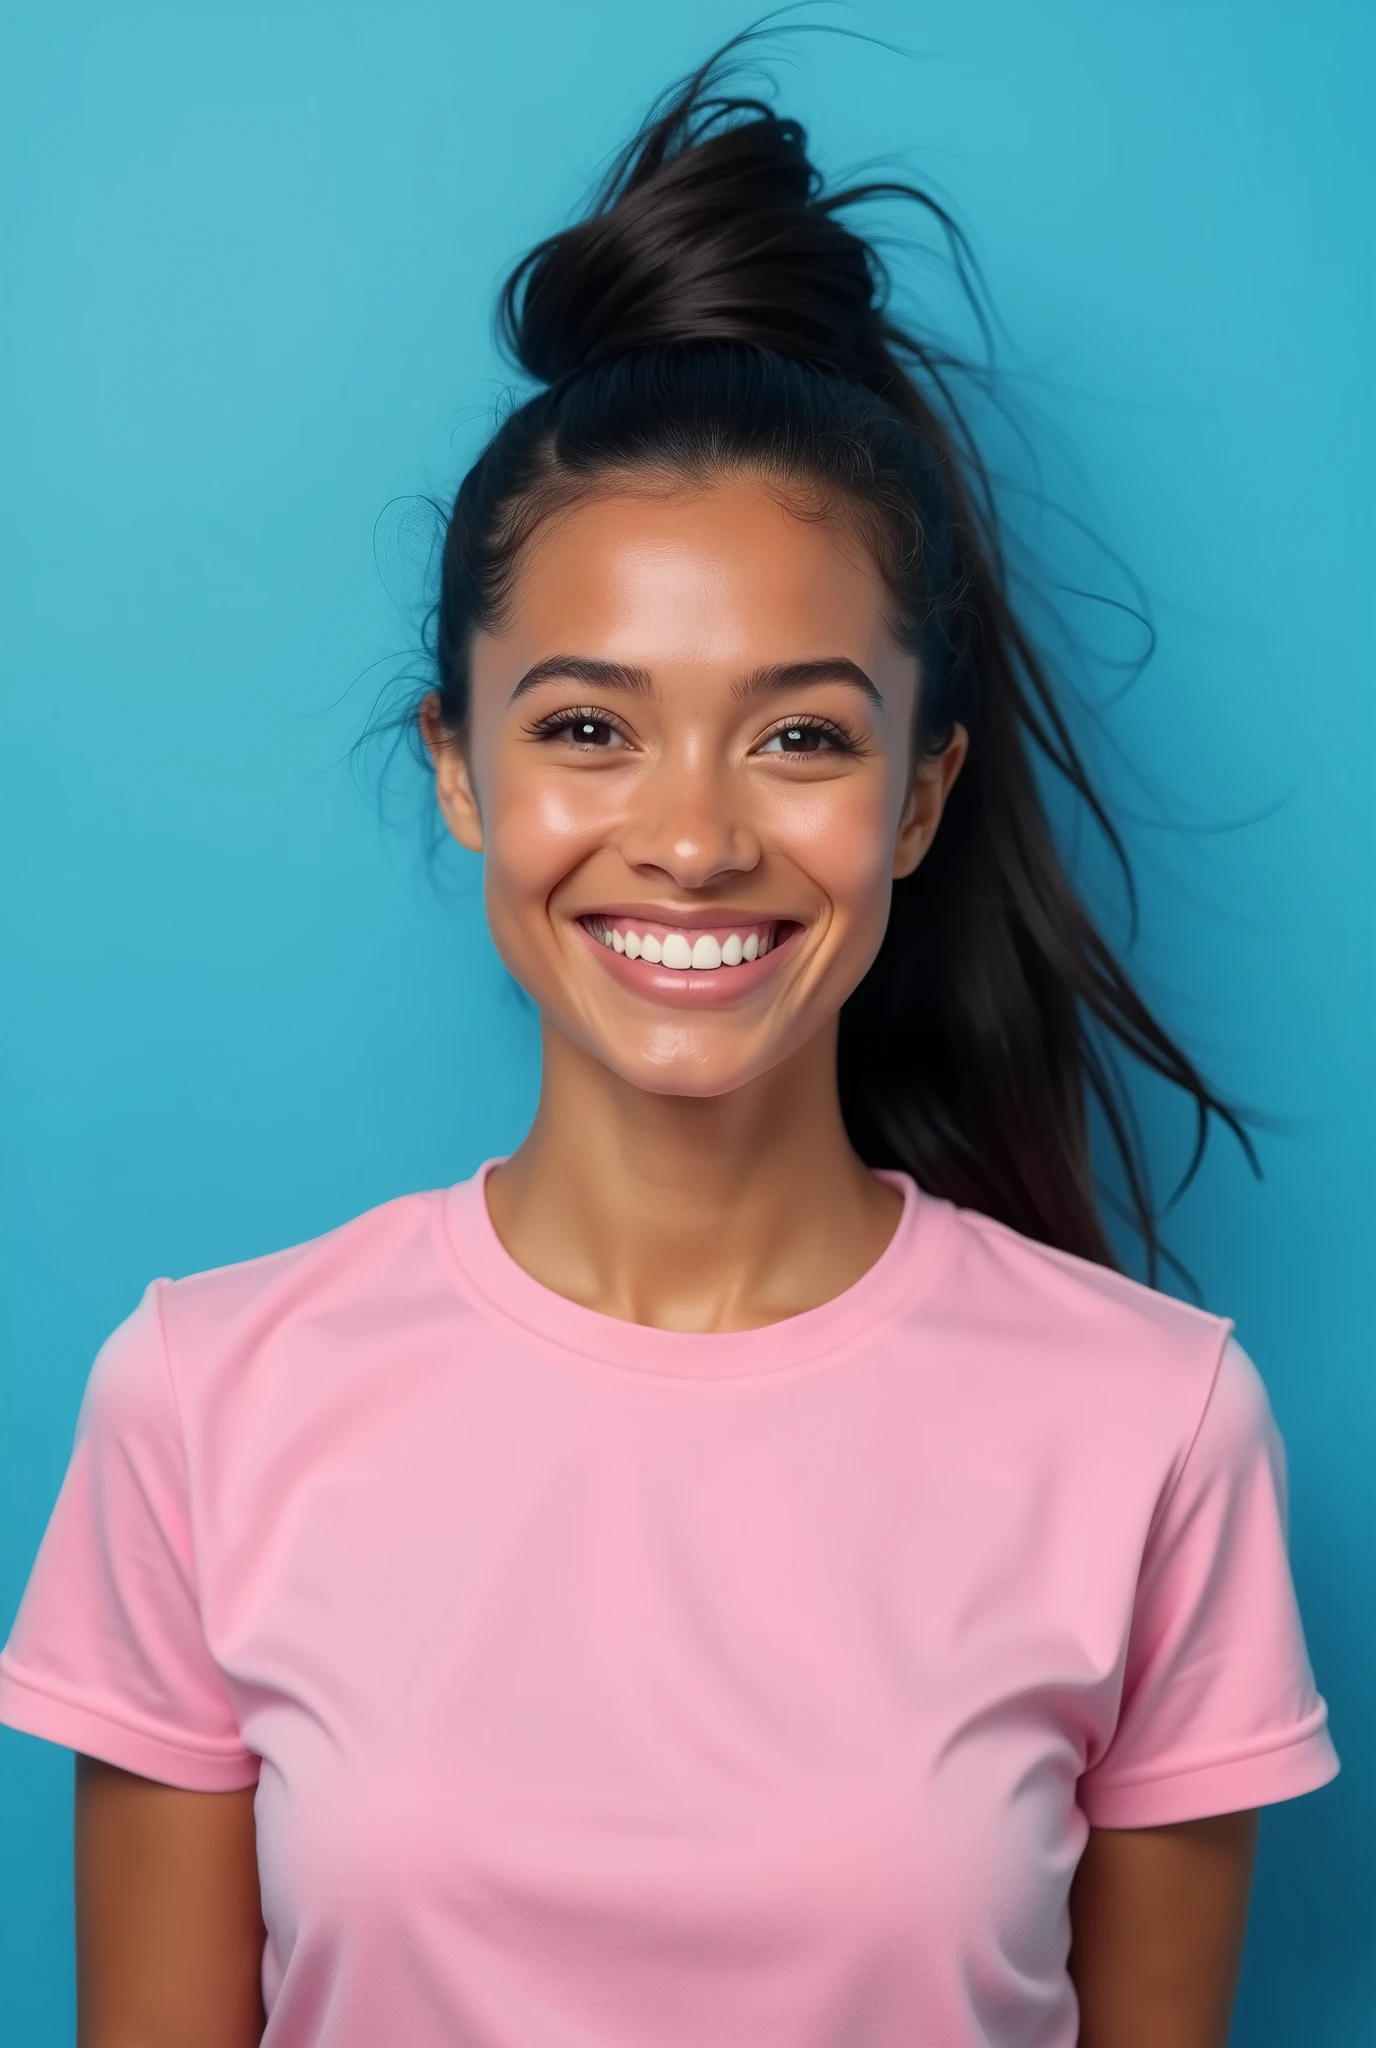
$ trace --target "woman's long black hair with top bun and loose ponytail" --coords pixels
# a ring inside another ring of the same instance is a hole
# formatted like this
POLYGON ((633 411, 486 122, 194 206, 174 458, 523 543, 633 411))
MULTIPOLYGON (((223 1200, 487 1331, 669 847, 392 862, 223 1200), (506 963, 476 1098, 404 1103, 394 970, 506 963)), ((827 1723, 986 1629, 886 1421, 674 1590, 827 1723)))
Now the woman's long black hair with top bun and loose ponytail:
POLYGON ((956 254, 964 242, 917 186, 827 193, 797 121, 723 90, 749 39, 665 94, 588 213, 502 291, 504 344, 543 389, 502 422, 448 518, 432 633, 440 721, 463 737, 473 635, 500 623, 526 541, 561 504, 629 473, 698 483, 735 471, 809 516, 852 522, 919 662, 915 745, 940 750, 954 723, 971 735, 936 840, 895 883, 878 956, 842 1010, 852 1143, 932 1194, 1116 1264, 1093 1100, 1155 1278, 1157 1212, 1114 1051, 1192 1098, 1190 1171, 1212 1118, 1249 1159, 1251 1145, 1069 881, 1034 754, 1089 809, 1130 885, 1122 840, 1009 602, 950 356, 897 322, 885 264, 842 215, 905 197, 956 254))

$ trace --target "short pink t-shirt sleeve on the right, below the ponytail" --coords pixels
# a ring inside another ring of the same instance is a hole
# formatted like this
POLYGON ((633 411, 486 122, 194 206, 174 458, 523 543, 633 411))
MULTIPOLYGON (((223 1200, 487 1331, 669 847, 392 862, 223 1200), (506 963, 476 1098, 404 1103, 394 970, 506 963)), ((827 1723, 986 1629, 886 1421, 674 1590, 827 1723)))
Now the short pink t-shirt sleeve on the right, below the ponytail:
POLYGON ((1079 1780, 1093 1827, 1161 1827, 1337 1776, 1290 1577, 1286 1454, 1229 1337, 1138 1577, 1116 1731, 1079 1780))

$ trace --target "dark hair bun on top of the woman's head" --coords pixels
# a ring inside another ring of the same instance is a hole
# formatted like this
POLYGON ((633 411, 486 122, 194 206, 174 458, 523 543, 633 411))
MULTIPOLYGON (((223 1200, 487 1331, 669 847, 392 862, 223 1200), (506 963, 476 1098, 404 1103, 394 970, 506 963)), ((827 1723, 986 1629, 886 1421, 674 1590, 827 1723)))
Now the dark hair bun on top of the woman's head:
POLYGON ((797 121, 711 90, 723 55, 651 111, 588 215, 508 279, 502 340, 543 383, 690 342, 889 381, 883 264, 833 211, 858 195, 823 199, 797 121))

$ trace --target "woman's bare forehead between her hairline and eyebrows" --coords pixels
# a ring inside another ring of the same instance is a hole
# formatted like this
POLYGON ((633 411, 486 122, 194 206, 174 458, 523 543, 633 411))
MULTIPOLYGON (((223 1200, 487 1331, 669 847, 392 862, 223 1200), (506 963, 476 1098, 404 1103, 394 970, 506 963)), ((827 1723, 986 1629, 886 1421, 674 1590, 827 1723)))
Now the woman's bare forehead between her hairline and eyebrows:
POLYGON ((864 549, 751 479, 600 494, 559 512, 526 549, 496 639, 520 659, 907 664, 864 549))

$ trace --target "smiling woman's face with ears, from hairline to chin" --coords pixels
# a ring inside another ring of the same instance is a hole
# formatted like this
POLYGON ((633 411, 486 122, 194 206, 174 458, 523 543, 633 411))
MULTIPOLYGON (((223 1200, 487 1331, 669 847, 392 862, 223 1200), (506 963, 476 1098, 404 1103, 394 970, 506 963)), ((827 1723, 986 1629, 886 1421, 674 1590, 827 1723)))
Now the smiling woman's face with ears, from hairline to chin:
POLYGON ((547 1024, 719 1096, 829 1032, 964 756, 913 762, 917 666, 854 543, 751 481, 549 520, 422 725, 487 922, 547 1024))

